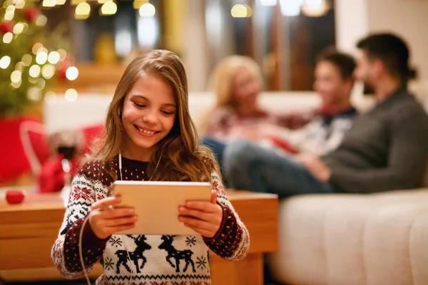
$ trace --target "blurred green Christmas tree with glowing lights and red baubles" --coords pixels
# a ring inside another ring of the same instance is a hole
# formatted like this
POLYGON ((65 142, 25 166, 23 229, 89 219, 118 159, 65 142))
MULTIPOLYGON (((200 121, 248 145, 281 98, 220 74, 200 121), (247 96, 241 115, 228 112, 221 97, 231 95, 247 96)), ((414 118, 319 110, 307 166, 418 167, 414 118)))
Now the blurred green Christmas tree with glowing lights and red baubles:
MULTIPOLYGON (((1 3, 1 0, 0 0, 1 3)), ((31 1, 3 1, 0 12, 0 117, 18 115, 43 100, 49 84, 76 79, 64 26, 48 19, 31 1)))

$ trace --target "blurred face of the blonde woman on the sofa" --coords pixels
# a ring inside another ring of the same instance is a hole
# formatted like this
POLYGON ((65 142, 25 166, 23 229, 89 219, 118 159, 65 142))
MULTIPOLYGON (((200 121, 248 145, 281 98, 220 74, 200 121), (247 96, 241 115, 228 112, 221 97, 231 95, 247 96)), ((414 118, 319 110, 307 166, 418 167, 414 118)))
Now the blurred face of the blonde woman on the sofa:
POLYGON ((234 78, 233 99, 237 105, 255 105, 261 89, 262 86, 257 76, 249 71, 248 68, 241 68, 234 78))

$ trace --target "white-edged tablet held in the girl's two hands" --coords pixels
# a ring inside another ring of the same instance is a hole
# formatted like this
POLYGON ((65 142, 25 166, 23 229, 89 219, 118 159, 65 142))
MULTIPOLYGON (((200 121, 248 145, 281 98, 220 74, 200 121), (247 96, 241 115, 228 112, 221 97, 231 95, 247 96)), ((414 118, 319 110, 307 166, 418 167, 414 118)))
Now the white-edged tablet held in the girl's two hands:
POLYGON ((120 195, 118 207, 133 207, 136 227, 116 234, 195 234, 178 221, 178 207, 189 200, 210 201, 209 182, 115 181, 113 195, 120 195))

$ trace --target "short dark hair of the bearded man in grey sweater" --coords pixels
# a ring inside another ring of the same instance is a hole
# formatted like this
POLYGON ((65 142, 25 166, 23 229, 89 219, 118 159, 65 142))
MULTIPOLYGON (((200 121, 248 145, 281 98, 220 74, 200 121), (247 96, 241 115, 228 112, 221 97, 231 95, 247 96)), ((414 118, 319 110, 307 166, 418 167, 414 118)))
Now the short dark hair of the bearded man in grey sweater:
POLYGON ((416 72, 409 68, 409 48, 407 44, 392 33, 375 33, 362 38, 357 48, 367 53, 369 59, 379 59, 387 71, 402 81, 414 78, 416 72))

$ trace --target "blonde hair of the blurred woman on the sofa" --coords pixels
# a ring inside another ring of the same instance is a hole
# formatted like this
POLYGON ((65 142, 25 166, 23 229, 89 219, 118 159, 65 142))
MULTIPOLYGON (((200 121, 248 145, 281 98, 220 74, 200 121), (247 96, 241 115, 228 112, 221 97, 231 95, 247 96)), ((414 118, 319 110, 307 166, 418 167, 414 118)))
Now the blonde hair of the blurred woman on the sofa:
POLYGON ((235 76, 239 71, 243 70, 243 68, 246 68, 248 71, 253 73, 256 80, 260 81, 260 84, 263 85, 262 72, 258 63, 255 62, 253 58, 234 55, 228 56, 223 59, 223 61, 220 61, 211 74, 208 83, 208 89, 212 90, 215 94, 215 105, 213 109, 205 115, 202 120, 203 123, 200 124, 200 130, 202 133, 205 133, 207 130, 210 115, 215 110, 225 106, 235 108, 236 103, 233 96, 235 76))

